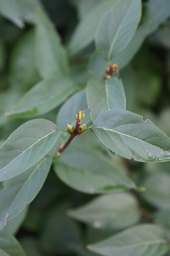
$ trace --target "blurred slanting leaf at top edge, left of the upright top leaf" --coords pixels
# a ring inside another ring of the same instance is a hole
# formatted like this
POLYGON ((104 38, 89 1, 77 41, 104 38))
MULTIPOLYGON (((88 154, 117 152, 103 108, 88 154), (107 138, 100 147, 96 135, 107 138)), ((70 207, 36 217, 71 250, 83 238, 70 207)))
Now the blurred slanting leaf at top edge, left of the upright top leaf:
POLYGON ((78 23, 68 45, 70 55, 75 55, 93 42, 95 31, 102 15, 119 0, 104 0, 78 23))

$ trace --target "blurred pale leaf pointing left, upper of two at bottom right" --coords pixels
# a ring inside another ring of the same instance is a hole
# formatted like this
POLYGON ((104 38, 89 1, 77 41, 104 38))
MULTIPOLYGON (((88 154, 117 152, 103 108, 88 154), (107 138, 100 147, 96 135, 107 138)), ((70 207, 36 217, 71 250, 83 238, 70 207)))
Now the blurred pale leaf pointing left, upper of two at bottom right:
POLYGON ((123 229, 139 221, 137 200, 128 193, 102 195, 68 215, 97 229, 123 229))

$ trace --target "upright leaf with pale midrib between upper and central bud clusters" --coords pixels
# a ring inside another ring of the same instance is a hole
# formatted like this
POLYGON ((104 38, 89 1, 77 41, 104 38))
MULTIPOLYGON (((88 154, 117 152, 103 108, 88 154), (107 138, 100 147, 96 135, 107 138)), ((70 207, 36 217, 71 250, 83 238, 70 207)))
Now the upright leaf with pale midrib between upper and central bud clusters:
POLYGON ((93 77, 87 84, 88 108, 94 121, 103 112, 110 109, 125 109, 126 98, 121 80, 116 77, 101 79, 93 77))

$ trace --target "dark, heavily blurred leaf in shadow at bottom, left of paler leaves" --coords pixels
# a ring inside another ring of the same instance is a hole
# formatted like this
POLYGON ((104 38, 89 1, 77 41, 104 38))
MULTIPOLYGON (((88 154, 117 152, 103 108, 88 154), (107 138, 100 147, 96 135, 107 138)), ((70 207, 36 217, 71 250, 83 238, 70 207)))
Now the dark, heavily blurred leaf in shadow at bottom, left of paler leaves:
POLYGON ((76 222, 66 216, 68 203, 55 206, 45 218, 40 244, 45 255, 68 255, 69 244, 80 242, 80 231, 76 222), (66 229, 64 229, 66 227, 66 229))

